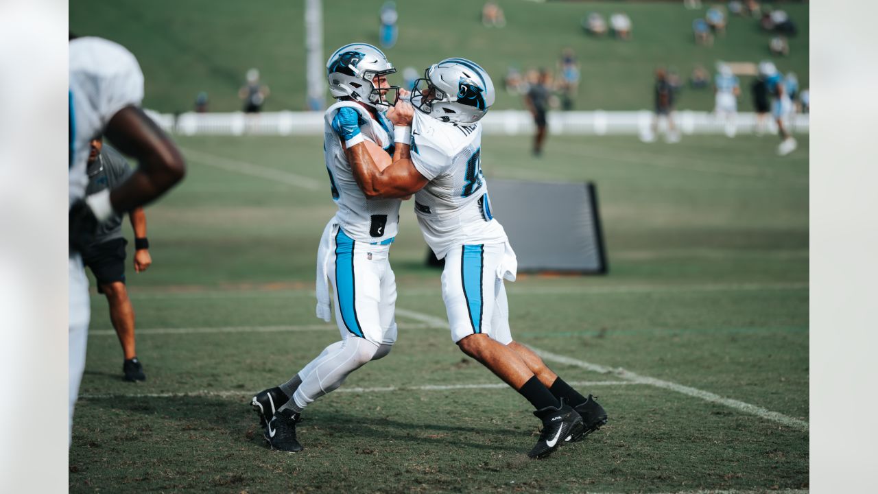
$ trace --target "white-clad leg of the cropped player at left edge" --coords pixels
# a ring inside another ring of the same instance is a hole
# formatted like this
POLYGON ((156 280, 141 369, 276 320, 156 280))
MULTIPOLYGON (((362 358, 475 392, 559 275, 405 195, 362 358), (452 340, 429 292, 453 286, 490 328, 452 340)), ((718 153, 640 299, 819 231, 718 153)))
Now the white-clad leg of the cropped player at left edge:
POLYGON ((73 409, 85 370, 85 348, 89 338, 89 280, 79 254, 68 260, 68 447, 73 439, 73 409))

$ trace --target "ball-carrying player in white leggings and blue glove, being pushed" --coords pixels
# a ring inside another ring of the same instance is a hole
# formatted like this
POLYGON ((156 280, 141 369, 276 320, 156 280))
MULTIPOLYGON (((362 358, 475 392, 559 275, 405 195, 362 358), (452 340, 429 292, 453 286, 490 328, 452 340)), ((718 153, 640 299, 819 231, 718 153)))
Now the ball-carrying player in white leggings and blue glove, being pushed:
POLYGON ((317 316, 330 321, 329 287, 341 340, 327 346, 290 381, 256 394, 251 405, 270 447, 300 451, 296 424, 302 410, 338 388, 357 368, 390 352, 396 341, 393 316, 396 280, 388 260, 397 234, 400 200, 367 200, 349 165, 351 149, 369 149, 372 162, 391 163, 395 134, 385 113, 396 72, 385 54, 365 43, 345 45, 327 62, 327 80, 338 99, 324 116, 323 149, 332 199, 338 212, 326 225, 317 251, 317 316))

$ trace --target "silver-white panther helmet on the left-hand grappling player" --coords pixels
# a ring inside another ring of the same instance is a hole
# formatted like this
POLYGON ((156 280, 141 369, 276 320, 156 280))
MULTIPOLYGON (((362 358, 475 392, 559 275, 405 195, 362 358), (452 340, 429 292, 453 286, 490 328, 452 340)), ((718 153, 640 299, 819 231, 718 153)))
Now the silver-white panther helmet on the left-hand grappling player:
POLYGON ((367 43, 345 45, 335 50, 327 61, 329 94, 333 98, 351 98, 377 110, 386 110, 391 104, 387 103, 382 92, 399 87, 390 86, 379 91, 372 79, 394 72, 393 64, 377 47, 367 43))

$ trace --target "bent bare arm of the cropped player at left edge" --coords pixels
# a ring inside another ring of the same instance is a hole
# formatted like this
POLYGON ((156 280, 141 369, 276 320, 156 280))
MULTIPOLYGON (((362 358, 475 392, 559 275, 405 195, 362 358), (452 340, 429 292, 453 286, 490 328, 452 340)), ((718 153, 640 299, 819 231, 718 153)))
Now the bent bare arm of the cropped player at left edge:
POLYGON ((139 162, 131 177, 110 192, 114 210, 130 211, 146 205, 183 179, 186 165, 180 151, 140 108, 126 106, 119 110, 104 135, 139 162))

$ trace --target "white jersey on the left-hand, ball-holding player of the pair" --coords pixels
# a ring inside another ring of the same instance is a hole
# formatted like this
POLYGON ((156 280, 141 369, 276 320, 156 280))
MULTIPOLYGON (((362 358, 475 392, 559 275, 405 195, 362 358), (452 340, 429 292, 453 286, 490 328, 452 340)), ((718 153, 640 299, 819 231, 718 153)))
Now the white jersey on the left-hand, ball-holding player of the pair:
POLYGON ((335 133, 332 120, 343 106, 354 108, 366 121, 360 126, 363 137, 375 142, 392 154, 393 124, 378 112, 381 123, 373 119, 369 112, 351 101, 340 101, 330 106, 324 115, 323 155, 326 159, 332 197, 338 206, 336 219, 342 230, 358 242, 381 243, 396 236, 399 229, 399 199, 367 200, 356 185, 356 178, 350 170, 348 156, 344 154, 342 137, 335 133), (383 124, 383 125, 382 125, 383 124))

